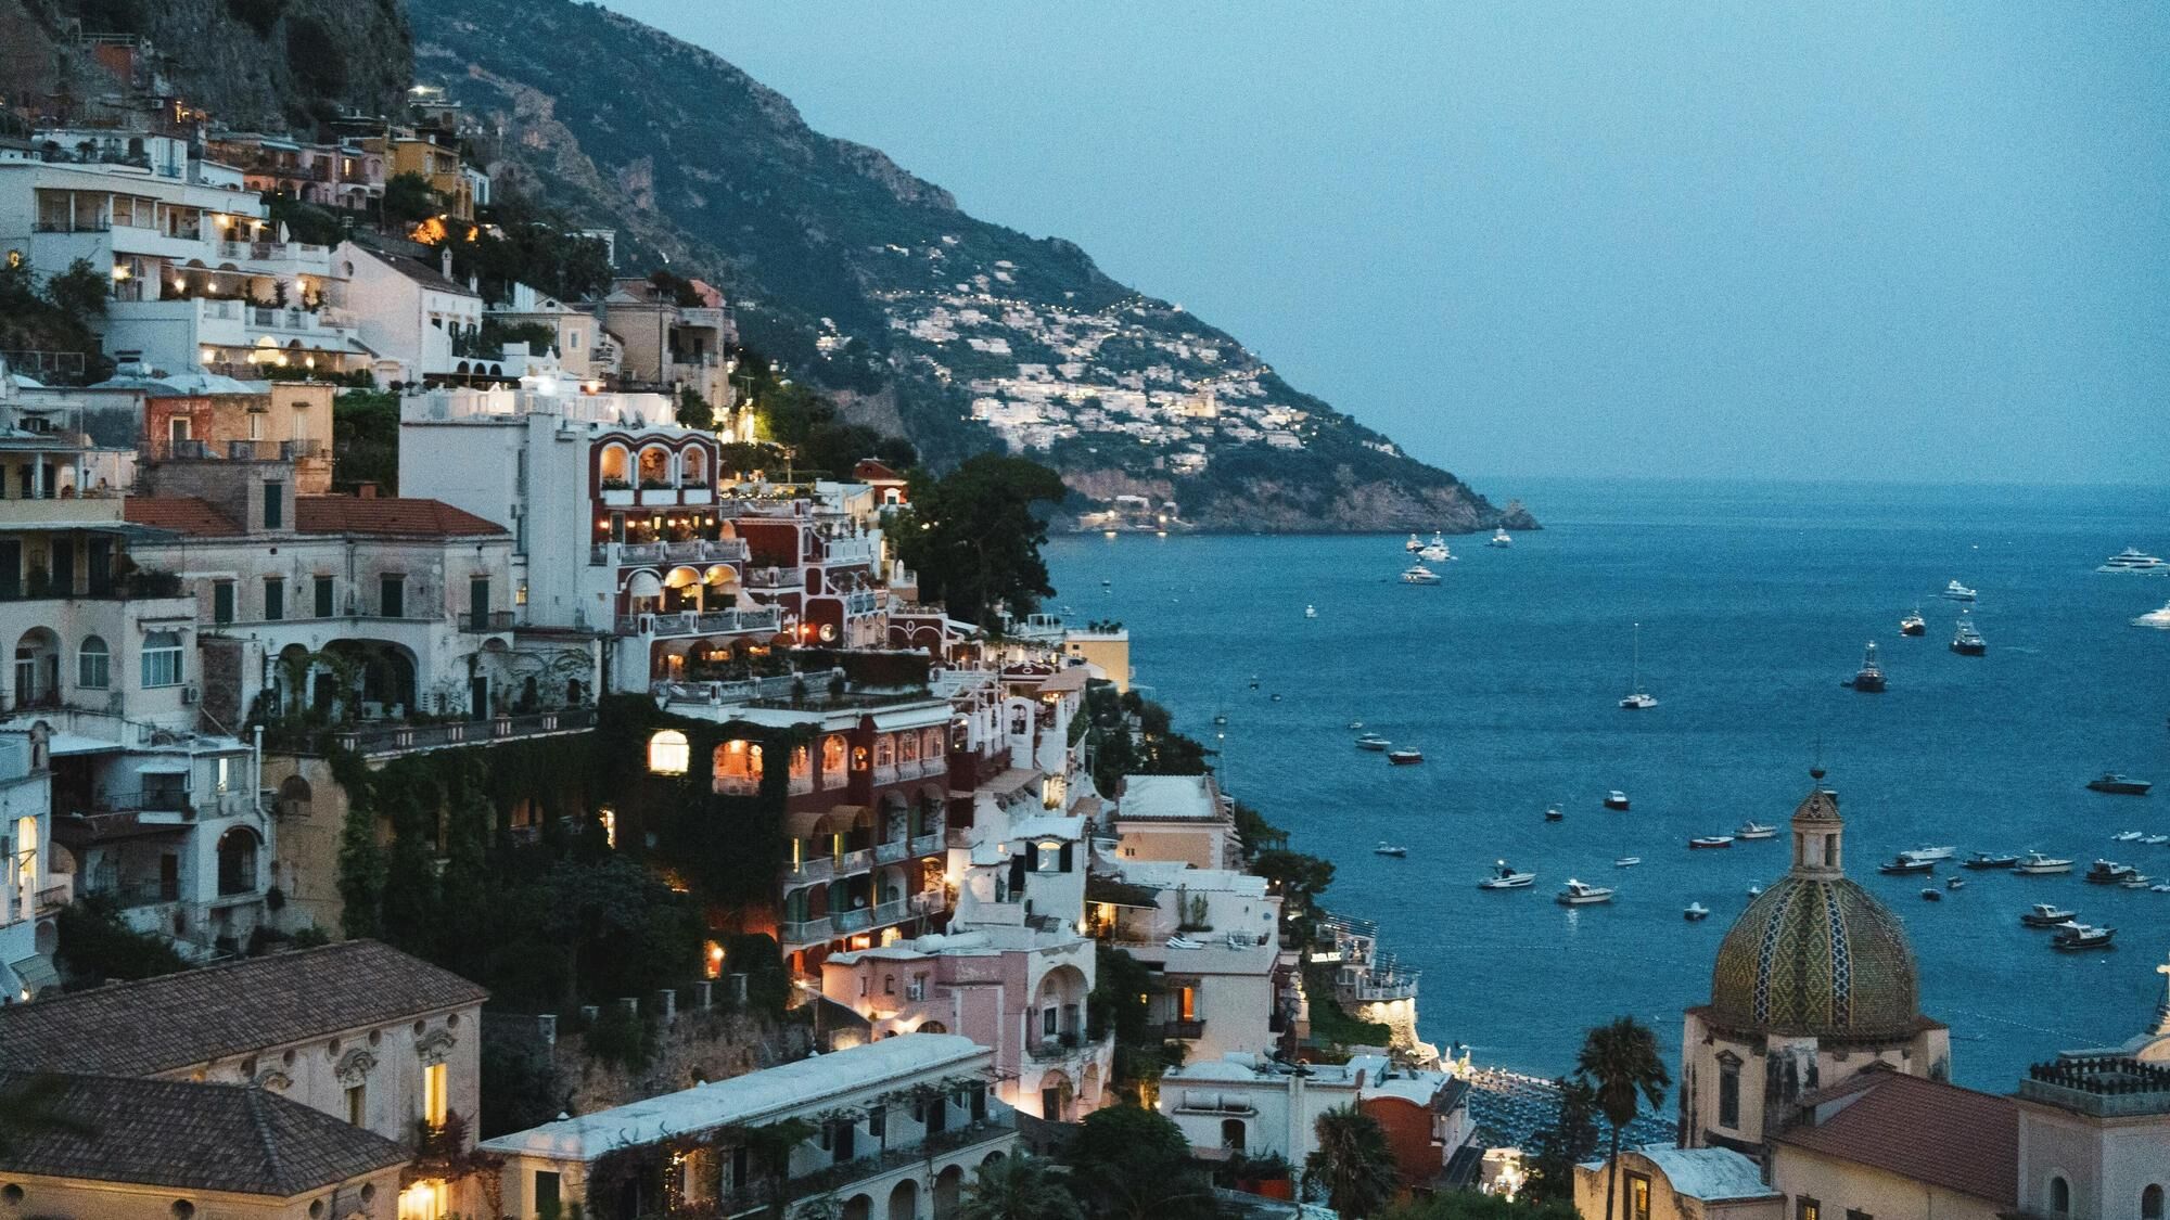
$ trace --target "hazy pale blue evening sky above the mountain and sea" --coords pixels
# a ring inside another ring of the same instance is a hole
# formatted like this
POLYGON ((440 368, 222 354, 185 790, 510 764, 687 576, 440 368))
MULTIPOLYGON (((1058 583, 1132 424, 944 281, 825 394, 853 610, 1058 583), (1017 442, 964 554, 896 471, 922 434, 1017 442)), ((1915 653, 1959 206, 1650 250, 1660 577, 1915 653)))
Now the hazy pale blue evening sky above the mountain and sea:
POLYGON ((608 2, 1463 475, 2170 482, 2170 4, 608 2))

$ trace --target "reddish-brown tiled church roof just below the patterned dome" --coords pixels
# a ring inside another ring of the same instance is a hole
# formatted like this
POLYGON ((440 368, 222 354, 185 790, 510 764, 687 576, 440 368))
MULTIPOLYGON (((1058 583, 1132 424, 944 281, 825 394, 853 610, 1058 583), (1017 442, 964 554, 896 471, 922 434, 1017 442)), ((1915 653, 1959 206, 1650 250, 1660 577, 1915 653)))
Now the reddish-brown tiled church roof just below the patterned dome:
POLYGON ((1903 1072, 1864 1079, 1851 1101, 1825 1094, 1821 1122, 1803 1109, 1775 1140, 2003 1207, 2018 1203, 2020 1118, 2009 1096, 1903 1072))

